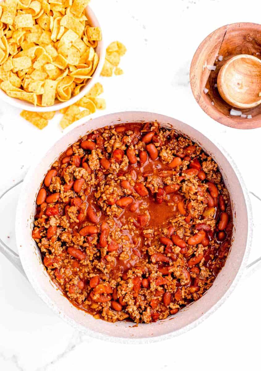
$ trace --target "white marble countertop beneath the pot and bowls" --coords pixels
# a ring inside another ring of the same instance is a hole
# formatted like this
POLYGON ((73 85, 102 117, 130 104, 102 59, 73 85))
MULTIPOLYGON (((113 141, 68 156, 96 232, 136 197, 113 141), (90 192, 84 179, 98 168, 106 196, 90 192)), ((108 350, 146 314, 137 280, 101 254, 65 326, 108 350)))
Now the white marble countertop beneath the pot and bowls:
MULTIPOLYGON (((189 87, 189 65, 199 43, 233 22, 260 22, 256 0, 92 0, 106 43, 128 47, 123 76, 101 78, 105 112, 144 109, 174 116, 214 136, 237 162, 249 190, 260 191, 261 129, 236 131, 204 114, 189 87)), ((0 101, 0 193, 20 180, 32 158, 61 135, 59 115, 43 131, 0 101)), ((0 234, 14 249, 19 187, 1 201, 0 234)), ((261 254, 260 201, 251 196, 254 240, 250 261, 261 254)), ((0 255, 0 370, 258 370, 261 270, 242 279, 225 304, 194 330, 165 342, 120 345, 79 334, 50 311, 20 273, 0 255)))

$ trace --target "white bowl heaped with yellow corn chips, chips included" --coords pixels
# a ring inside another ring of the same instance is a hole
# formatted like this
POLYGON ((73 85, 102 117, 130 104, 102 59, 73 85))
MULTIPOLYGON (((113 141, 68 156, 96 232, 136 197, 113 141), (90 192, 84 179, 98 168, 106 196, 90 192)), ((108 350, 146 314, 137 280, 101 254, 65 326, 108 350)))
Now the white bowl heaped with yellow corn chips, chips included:
POLYGON ((0 3, 0 99, 27 111, 66 108, 95 84, 105 48, 89 0, 0 3))

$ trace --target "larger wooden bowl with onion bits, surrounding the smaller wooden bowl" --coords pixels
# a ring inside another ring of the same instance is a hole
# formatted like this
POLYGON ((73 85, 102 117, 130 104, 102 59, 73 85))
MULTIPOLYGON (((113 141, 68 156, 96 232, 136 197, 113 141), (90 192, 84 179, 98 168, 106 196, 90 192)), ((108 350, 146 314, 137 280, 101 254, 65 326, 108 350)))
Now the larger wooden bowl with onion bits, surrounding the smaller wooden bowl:
POLYGON ((261 105, 240 109, 243 115, 230 115, 231 108, 222 99, 217 89, 217 77, 222 66, 232 57, 248 54, 261 59, 261 25, 256 23, 234 23, 220 27, 199 45, 191 62, 190 84, 196 102, 214 120, 237 129, 261 127, 261 105), (222 56, 218 60, 217 56, 222 56), (207 65, 215 65, 215 71, 207 65), (204 88, 208 89, 204 93, 204 88))

